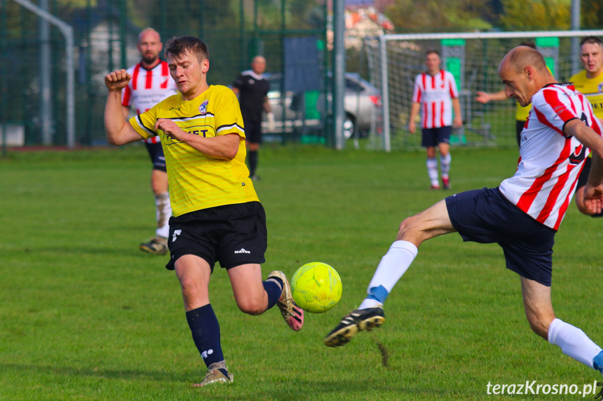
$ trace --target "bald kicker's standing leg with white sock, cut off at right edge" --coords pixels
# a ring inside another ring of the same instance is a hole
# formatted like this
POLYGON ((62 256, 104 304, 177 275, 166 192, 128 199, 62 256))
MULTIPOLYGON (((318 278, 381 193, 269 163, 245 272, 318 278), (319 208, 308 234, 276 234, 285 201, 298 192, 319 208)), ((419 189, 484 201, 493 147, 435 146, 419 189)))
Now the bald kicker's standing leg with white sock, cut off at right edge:
POLYGON ((600 372, 603 370, 603 349, 580 328, 555 317, 551 287, 522 277, 521 294, 525 316, 528 317, 532 331, 560 347, 563 354, 590 368, 600 372))

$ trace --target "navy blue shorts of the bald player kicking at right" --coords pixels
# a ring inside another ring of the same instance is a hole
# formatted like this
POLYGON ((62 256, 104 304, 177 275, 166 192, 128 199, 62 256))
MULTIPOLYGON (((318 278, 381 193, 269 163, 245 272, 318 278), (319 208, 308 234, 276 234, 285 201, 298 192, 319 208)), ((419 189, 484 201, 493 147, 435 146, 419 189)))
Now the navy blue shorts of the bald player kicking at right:
POLYGON ((498 243, 509 270, 551 287, 554 229, 511 204, 498 188, 452 195, 446 207, 463 241, 498 243))

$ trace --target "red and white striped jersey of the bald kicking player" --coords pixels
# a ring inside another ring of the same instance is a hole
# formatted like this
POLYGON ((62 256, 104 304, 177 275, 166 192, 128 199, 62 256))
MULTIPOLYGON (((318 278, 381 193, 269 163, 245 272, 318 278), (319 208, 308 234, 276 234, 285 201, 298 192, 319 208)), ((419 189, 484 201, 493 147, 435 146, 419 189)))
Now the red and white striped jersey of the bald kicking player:
POLYGON ((532 111, 521 131, 515 175, 500 192, 538 222, 558 229, 572 201, 584 159, 590 152, 563 133, 565 123, 580 119, 599 135, 601 121, 586 96, 571 84, 545 86, 532 96, 532 111))

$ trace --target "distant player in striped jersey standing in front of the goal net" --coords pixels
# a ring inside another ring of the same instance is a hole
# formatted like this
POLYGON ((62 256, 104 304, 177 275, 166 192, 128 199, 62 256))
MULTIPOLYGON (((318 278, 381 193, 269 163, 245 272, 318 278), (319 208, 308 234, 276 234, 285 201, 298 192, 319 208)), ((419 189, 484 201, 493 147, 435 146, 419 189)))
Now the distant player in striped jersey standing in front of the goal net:
POLYGON ((450 134, 452 126, 463 126, 456 81, 451 73, 440 70, 439 53, 428 50, 425 54, 427 71, 416 76, 408 130, 414 134, 414 120, 421 111, 421 146, 427 148, 427 172, 432 189, 439 189, 435 149, 439 149, 439 168, 442 187, 450 189, 450 134), (454 109, 454 121, 452 111, 454 109))

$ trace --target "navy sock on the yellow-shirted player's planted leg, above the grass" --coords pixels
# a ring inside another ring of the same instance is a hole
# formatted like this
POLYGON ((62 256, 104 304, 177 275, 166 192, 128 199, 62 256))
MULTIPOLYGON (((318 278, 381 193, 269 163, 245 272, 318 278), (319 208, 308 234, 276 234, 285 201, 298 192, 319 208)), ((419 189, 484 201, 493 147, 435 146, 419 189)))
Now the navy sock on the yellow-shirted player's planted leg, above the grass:
POLYGON ((205 365, 209 368, 212 363, 224 361, 220 345, 220 325, 212 305, 208 304, 201 308, 189 310, 187 321, 189 322, 189 328, 191 328, 193 341, 205 365))

